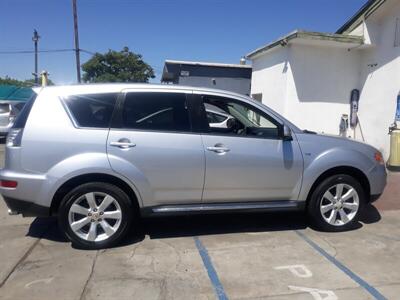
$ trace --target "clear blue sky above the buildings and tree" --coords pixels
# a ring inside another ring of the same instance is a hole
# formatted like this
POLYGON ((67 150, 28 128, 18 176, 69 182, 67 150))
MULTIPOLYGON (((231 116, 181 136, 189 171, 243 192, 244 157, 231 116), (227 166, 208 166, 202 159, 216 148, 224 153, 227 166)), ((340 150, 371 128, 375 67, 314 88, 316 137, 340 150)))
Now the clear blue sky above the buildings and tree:
MULTIPOLYGON (((335 32, 366 0, 77 0, 80 48, 143 56, 159 82, 166 59, 239 63, 242 56, 295 30, 335 32)), ((40 50, 72 49, 71 0, 0 0, 0 77, 32 78, 32 35, 40 50)), ((90 58, 82 53, 81 62, 90 58)), ((76 82, 71 52, 40 53, 39 71, 76 82)))

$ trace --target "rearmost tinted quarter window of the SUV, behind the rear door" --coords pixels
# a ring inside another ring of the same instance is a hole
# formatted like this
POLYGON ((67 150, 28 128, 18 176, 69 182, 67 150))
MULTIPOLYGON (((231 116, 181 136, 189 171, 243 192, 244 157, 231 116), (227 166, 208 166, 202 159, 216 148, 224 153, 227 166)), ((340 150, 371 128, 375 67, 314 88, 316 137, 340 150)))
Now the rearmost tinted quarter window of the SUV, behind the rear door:
POLYGON ((73 95, 64 99, 80 127, 108 128, 117 94, 73 95))

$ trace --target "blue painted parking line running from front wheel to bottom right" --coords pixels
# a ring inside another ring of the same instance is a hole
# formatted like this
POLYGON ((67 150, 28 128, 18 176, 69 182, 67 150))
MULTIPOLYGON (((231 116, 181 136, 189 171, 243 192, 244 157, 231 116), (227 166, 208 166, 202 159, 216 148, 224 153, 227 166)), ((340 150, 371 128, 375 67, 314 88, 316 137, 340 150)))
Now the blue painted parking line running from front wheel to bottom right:
POLYGON ((368 284, 364 279, 359 277, 357 274, 352 272, 349 268, 343 265, 340 261, 318 246, 315 242, 313 242, 310 238, 308 238, 304 233, 295 230, 298 236, 300 236, 305 242, 307 242, 314 250, 319 252, 322 256, 324 256, 327 260, 333 263, 336 267, 338 267, 343 273, 349 276, 352 280, 357 282, 363 289, 365 289, 368 293, 370 293, 375 299, 385 300, 386 298, 373 286, 368 284))

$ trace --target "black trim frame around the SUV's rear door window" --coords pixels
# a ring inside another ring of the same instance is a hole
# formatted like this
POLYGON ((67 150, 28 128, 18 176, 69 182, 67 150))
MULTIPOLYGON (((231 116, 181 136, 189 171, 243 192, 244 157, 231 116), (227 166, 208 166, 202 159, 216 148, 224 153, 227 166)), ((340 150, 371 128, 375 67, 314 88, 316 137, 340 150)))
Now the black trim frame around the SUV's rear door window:
POLYGON ((119 97, 117 98, 117 102, 115 105, 115 110, 111 118, 110 122, 110 130, 118 130, 118 131, 135 131, 135 132, 159 132, 159 133, 179 133, 179 134, 196 134, 193 130, 193 117, 192 117, 192 101, 191 101, 192 91, 190 90, 126 90, 120 92, 119 97), (178 131, 178 130, 161 130, 161 129, 143 129, 143 128, 124 128, 123 126, 123 107, 126 100, 127 94, 131 93, 165 93, 165 94, 184 94, 186 98, 186 105, 188 110, 188 118, 189 118, 189 131, 178 131))

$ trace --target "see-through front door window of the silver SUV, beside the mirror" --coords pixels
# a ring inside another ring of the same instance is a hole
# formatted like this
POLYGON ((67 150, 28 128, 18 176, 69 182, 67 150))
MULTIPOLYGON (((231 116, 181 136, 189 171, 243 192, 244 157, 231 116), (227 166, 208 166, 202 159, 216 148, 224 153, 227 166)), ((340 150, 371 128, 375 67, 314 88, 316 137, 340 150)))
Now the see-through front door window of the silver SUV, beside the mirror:
POLYGON ((234 99, 214 96, 204 96, 203 102, 207 113, 208 132, 210 133, 260 138, 279 137, 279 124, 251 105, 234 99), (224 123, 224 126, 215 124, 216 122, 210 118, 210 107, 214 108, 213 111, 217 109, 229 116, 229 120, 226 124, 224 123))

